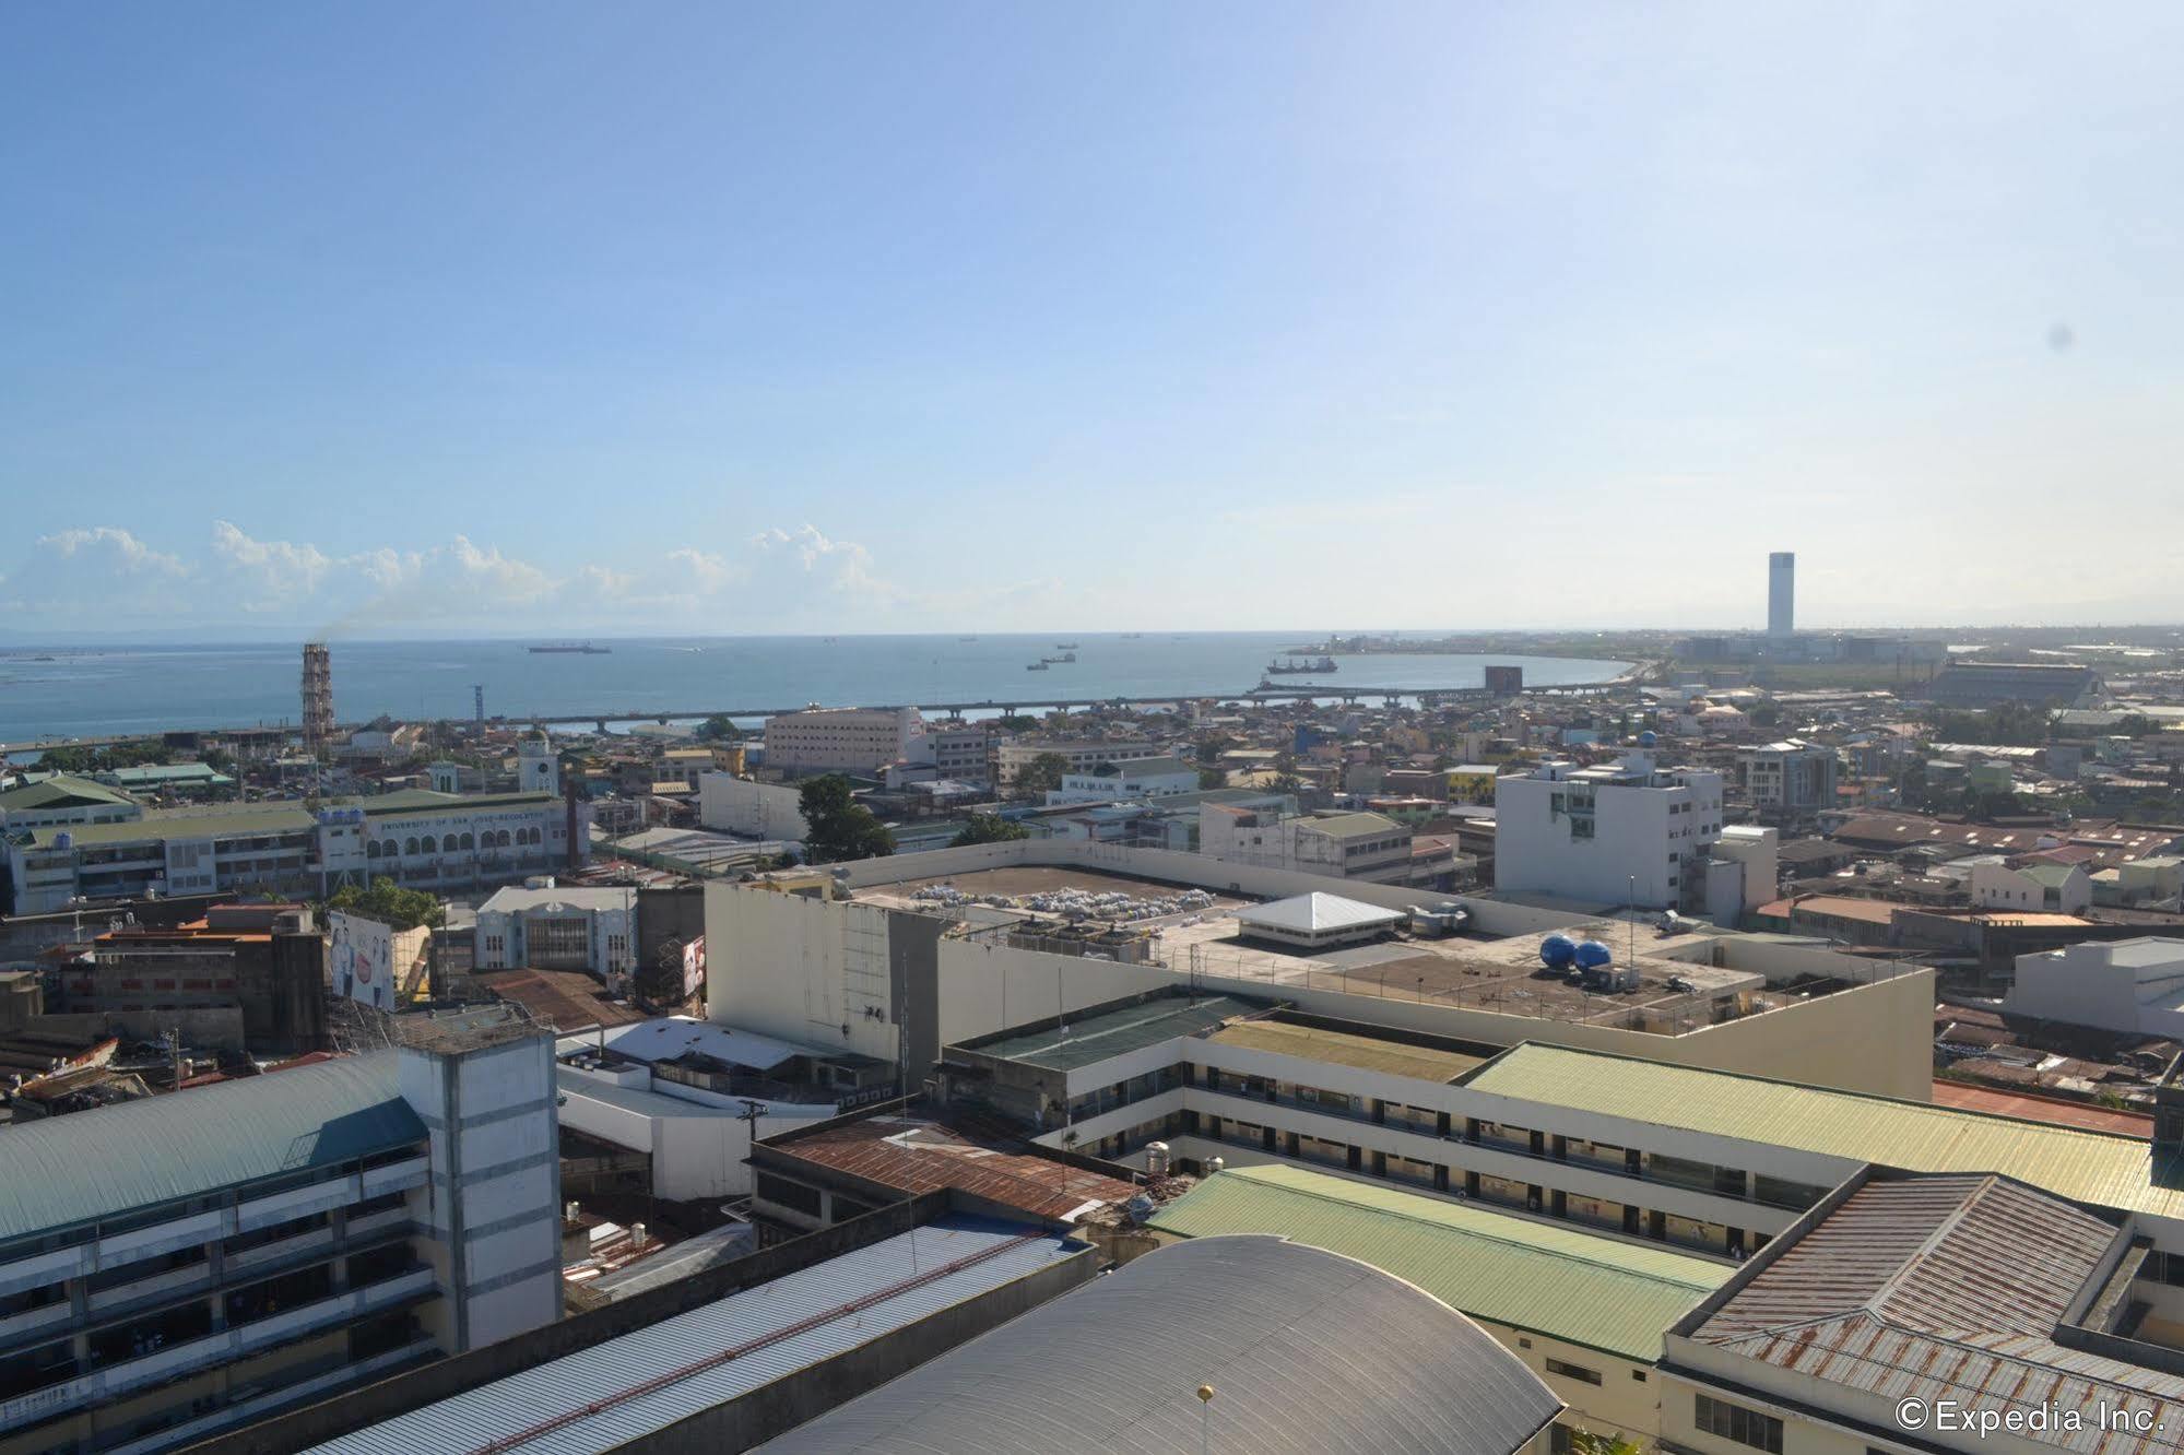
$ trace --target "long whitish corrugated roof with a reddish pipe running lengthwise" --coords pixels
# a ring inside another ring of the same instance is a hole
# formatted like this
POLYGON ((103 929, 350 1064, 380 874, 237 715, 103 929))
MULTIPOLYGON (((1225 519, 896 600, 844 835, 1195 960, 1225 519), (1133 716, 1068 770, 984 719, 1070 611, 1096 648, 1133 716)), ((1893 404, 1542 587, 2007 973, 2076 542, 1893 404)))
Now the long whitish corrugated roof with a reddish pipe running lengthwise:
POLYGON ((330 1455, 461 1455, 546 1420, 577 1416, 509 1448, 520 1455, 605 1455, 1072 1256, 1090 1254, 1081 1243, 1022 1223, 943 1217, 312 1448, 330 1455), (677 1368, 795 1328, 974 1254, 989 1256, 856 1313, 821 1320, 690 1379, 581 1413, 677 1368))

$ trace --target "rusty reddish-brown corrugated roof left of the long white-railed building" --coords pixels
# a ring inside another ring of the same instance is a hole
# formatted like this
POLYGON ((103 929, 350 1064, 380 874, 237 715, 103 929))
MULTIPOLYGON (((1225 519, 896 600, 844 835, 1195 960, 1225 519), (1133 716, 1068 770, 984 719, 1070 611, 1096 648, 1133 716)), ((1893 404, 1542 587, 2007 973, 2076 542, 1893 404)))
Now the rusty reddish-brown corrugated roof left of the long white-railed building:
POLYGON ((1009 1151, 924 1114, 878 1112, 784 1132, 758 1147, 915 1197, 961 1188, 1033 1217, 1070 1219, 1136 1186, 1057 1158, 1009 1151))

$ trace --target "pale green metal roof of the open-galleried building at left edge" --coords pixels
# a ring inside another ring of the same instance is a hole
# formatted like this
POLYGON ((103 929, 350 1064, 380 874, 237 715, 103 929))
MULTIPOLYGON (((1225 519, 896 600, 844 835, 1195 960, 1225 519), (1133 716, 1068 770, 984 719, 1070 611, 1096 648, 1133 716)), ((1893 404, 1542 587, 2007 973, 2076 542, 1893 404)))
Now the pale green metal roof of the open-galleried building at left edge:
POLYGON ((395 1051, 0 1132, 0 1243, 422 1143, 395 1051))

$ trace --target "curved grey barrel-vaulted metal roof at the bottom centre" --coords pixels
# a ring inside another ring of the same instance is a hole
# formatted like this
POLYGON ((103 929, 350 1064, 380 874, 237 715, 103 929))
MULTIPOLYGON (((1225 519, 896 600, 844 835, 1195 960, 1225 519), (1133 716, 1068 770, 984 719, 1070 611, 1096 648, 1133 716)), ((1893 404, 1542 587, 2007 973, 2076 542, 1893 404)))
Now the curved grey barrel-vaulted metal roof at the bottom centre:
POLYGON ((1441 1300, 1302 1243, 1214 1237, 1151 1252, 762 1448, 1166 1455, 1197 1448, 1210 1422, 1223 1451, 1509 1455, 1559 1411, 1441 1300))

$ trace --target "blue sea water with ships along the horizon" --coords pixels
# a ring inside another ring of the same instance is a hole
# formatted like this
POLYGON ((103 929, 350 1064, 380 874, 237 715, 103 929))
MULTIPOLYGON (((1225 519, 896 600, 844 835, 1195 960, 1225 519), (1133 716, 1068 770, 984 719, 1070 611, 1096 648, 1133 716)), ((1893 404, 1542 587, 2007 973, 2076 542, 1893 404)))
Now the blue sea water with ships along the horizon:
MULTIPOLYGON (((1096 636, 738 636, 601 640, 603 655, 531 653, 531 642, 332 642, 334 712, 470 717, 485 712, 662 712, 830 708, 858 703, 1068 697, 1238 695, 1269 655, 1306 636, 1271 631, 1147 631, 1096 636), (1077 644, 1077 662, 1024 671, 1077 644)), ((1487 664, 1518 664, 1533 686, 1601 682, 1625 662, 1579 658, 1345 655, 1330 675, 1284 686, 1465 688, 1487 664)), ((0 741, 159 728, 293 723, 299 644, 9 647, 0 651, 0 741)))

